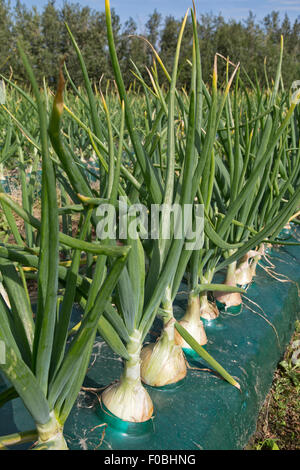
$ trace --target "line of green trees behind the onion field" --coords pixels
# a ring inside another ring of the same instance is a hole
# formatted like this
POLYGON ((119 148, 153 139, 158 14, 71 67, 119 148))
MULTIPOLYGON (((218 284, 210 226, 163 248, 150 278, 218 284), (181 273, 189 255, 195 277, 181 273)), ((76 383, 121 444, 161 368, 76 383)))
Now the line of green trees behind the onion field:
MULTIPOLYGON (((180 20, 171 14, 163 18, 157 10, 149 15, 142 30, 138 29, 133 18, 121 24, 114 10, 112 20, 120 66, 127 87, 134 83, 131 61, 149 81, 147 69, 151 70, 153 66, 153 53, 147 41, 155 47, 166 68, 172 69, 180 20)), ((276 11, 270 12, 260 22, 251 11, 243 21, 225 21, 221 14, 198 13, 198 22, 205 83, 211 80, 214 56, 219 53, 233 63, 240 62, 242 73, 245 76, 247 74, 252 81, 258 80, 262 86, 268 84, 276 73, 281 35, 284 37, 283 83, 288 87, 294 80, 300 79, 300 16, 292 23, 287 15, 281 18, 276 11)), ((34 65, 40 83, 45 77, 50 86, 56 85, 58 64, 61 57, 65 56, 72 80, 76 85, 82 84, 76 54, 65 23, 70 27, 82 51, 90 78, 99 83, 102 77, 103 84, 112 79, 104 11, 67 1, 58 8, 55 0, 49 0, 41 12, 36 7, 26 7, 19 0, 14 8, 9 0, 0 0, 0 73, 26 83, 24 68, 16 50, 19 40, 34 65)), ((191 29, 189 20, 181 50, 179 87, 189 86, 191 29)), ((220 58, 218 63, 219 77, 224 79, 226 61, 220 58)), ((161 83, 166 81, 159 67, 158 73, 161 83)))

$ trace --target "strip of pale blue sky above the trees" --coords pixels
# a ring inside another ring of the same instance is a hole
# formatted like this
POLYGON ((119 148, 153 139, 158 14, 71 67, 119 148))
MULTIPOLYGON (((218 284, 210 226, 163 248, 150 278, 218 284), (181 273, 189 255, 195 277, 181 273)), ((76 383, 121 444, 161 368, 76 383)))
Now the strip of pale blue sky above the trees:
MULTIPOLYGON (((104 0, 77 0, 77 2, 73 0, 73 2, 95 10, 104 10, 104 0)), ((47 3, 47 0, 23 0, 22 3, 28 7, 38 5, 40 9, 47 3)), ((56 0, 58 7, 62 3, 62 0, 56 0)), ((250 2, 248 0, 195 0, 195 3, 199 13, 222 13, 226 19, 243 20, 248 16, 249 10, 256 15, 257 21, 272 10, 279 11, 282 17, 287 13, 291 21, 300 16, 300 0, 251 0, 250 2)), ((163 16, 171 14, 176 18, 181 18, 191 5, 192 0, 111 0, 111 7, 115 8, 122 23, 132 16, 140 28, 155 8, 163 16)))

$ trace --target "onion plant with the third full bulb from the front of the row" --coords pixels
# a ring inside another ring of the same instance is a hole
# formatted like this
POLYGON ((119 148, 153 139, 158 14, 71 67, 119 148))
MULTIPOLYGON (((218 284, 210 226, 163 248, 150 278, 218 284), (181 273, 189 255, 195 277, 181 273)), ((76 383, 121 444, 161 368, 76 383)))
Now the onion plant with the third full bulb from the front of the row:
MULTIPOLYGON (((198 204, 202 204, 204 206, 204 214, 205 214, 205 224, 204 224, 204 232, 205 232, 205 239, 204 245, 197 250, 193 250, 190 260, 189 254, 183 253, 183 257, 185 259, 185 264, 183 264, 184 268, 181 271, 181 274, 177 275, 176 283, 172 286, 169 286, 169 291, 166 293, 166 302, 165 302, 165 310, 171 312, 172 301, 174 300, 177 289, 178 289, 178 281, 181 281, 181 277, 184 274, 184 270, 186 267, 186 263, 188 263, 188 271, 189 271, 189 279, 190 279, 190 294, 188 299, 188 309, 185 317, 182 319, 181 324, 184 325, 187 330, 193 334, 193 336, 197 339, 198 342, 204 344, 206 342, 206 335, 203 329, 203 324, 200 320, 200 313, 208 315, 208 302, 206 298, 206 288, 203 287, 203 284, 209 284, 210 290, 216 289, 224 289, 229 290, 226 286, 221 285, 213 285, 212 284, 212 277, 213 277, 213 270, 211 272, 206 272, 205 275, 201 274, 199 286, 199 264, 200 258, 206 259, 207 254, 211 256, 214 251, 219 250, 215 257, 216 260, 220 258, 220 250, 221 249, 228 249, 228 248, 235 248, 234 244, 226 243, 221 237, 218 236, 217 231, 215 230, 213 224, 207 217, 208 208, 210 207, 210 201, 212 199, 212 190, 213 190, 213 183, 214 183, 214 145, 216 140, 216 133, 219 120, 222 116, 222 110, 224 108, 226 97, 229 93, 229 89, 234 78, 236 71, 234 71, 230 82, 228 83, 224 93, 222 94, 217 89, 217 63, 215 61, 214 70, 213 70, 213 95, 209 97, 209 106, 207 107, 207 113, 204 114, 204 106, 203 106, 203 83, 202 83, 202 76, 201 76, 201 58, 200 58, 200 50, 199 50, 199 42, 197 36, 197 23, 195 13, 192 12, 192 20, 193 20, 193 40, 194 40, 194 49, 193 49, 193 60, 192 60, 192 73, 191 73, 191 92, 190 96, 186 98, 186 103, 184 103, 182 97, 179 95, 177 90, 174 89, 174 81, 176 80, 176 67, 173 70, 172 77, 166 71, 164 64, 162 63, 160 57, 154 51, 155 57, 159 62, 160 66, 162 67, 163 71, 165 72, 167 78, 170 81, 170 93, 167 96, 167 99, 164 98, 163 91, 160 89, 158 79, 157 79, 157 72, 156 69, 153 68, 151 76, 151 81, 153 84, 154 92, 159 97, 161 101, 161 107, 166 114, 167 122, 170 124, 170 115, 174 114, 174 110, 170 111, 170 103, 171 102, 171 90, 173 86, 173 103, 172 106, 174 107, 174 101, 176 97, 176 103, 178 105, 177 111, 180 114, 180 119, 183 123, 183 130, 181 133, 185 135, 185 139, 179 139, 176 144, 174 144, 173 150, 173 169, 174 172, 175 168, 175 158, 176 158, 176 165, 177 165, 177 173, 179 174, 178 181, 175 184, 175 192, 174 195, 171 196, 171 201, 173 202, 180 199, 180 190, 181 190, 181 183, 180 181, 184 181, 184 171, 185 171, 185 156, 189 152, 192 158, 191 163, 191 174, 190 174, 190 181, 191 183, 191 192, 189 194, 189 202, 194 203, 195 201, 198 204), (167 106, 167 100, 168 106, 167 106), (191 124, 191 109, 194 109, 194 121, 191 124), (205 130, 204 130, 205 128, 205 130), (176 149, 176 150, 175 150, 176 149), (186 154, 185 154, 186 152, 186 154), (176 155, 176 157, 175 157, 176 155), (202 181, 202 183, 201 183, 202 181), (199 186, 200 182, 200 186, 199 186), (204 184, 206 182, 207 184, 204 184), (210 244, 210 245, 208 245, 210 244), (206 276, 206 278, 205 278, 206 276), (201 295, 200 295, 201 291, 201 295), (171 292, 171 294, 170 294, 171 292)), ((178 51, 177 51, 178 54, 178 51)), ((149 72, 150 74, 150 72, 149 72)), ((137 73, 137 76, 143 83, 144 87, 146 88, 145 82, 143 82, 141 75, 137 73)), ((208 91, 206 90, 206 96, 209 96, 208 91)), ((174 123, 172 124, 174 126, 174 123)), ((155 129, 154 129, 155 130, 155 129)), ((174 132, 174 129, 173 129, 174 132)), ((153 134, 153 131, 152 131, 153 134)), ((153 155, 155 153, 153 152, 153 155)), ((160 166, 162 166, 161 155, 159 154, 160 166)), ((168 155, 167 155, 167 162, 168 162, 168 155)), ((167 165, 167 164, 166 164, 167 165)), ((168 167, 167 167, 168 168, 168 167)), ((162 170, 163 168, 161 168, 162 170)), ((173 177, 174 178, 174 177, 173 177)), ((159 244, 158 249, 156 252, 159 252, 159 244)), ((155 252, 154 252, 155 253, 155 252)), ((158 262, 155 264, 159 266, 158 262)), ((236 289, 241 292, 241 289, 236 289)), ((166 318, 170 320, 172 318, 172 313, 166 315, 166 318), (169 317, 168 317, 169 315, 169 317)), ((210 313, 211 316, 211 313, 210 313)), ((167 322, 166 322, 167 323, 167 322)), ((188 347, 186 342, 180 337, 179 334, 176 334, 176 342, 180 345, 183 345, 185 348, 188 347)))

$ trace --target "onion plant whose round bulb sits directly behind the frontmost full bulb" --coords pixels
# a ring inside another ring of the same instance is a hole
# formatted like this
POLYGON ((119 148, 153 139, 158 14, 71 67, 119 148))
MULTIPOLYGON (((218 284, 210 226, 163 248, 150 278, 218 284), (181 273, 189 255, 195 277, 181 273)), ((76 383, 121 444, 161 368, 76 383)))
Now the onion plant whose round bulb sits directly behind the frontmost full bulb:
MULTIPOLYGON (((153 113, 150 108, 150 100, 147 100, 150 132, 146 136, 144 144, 142 144, 135 130, 133 116, 127 103, 127 95, 114 47, 108 1, 106 1, 106 18, 111 61, 120 98, 124 100, 125 103, 126 123, 137 163, 140 168, 139 177, 143 178, 148 188, 148 207, 150 209, 153 203, 162 203, 166 206, 177 203, 182 210, 187 204, 193 205, 195 193, 193 185, 190 185, 193 172, 195 171, 199 176, 202 171, 201 165, 197 164, 195 160, 194 153, 195 122, 196 116, 199 114, 199 102, 196 100, 197 90, 193 80, 191 100, 187 115, 187 139, 185 147, 181 151, 181 172, 178 176, 175 172, 176 154, 178 152, 175 141, 175 103, 177 100, 179 105, 182 106, 182 101, 176 90, 176 79, 181 39, 187 20, 187 14, 179 33, 174 67, 172 76, 170 77, 170 89, 166 97, 164 97, 163 91, 159 86, 156 79, 157 77, 154 77, 152 80, 159 107, 156 119, 152 120, 153 113), (159 142, 157 139, 153 142, 153 137, 156 132, 160 129, 162 133, 164 128, 166 129, 165 150, 159 145, 162 142, 159 142), (151 159, 149 158, 150 154, 151 159)), ((160 61, 157 55, 156 58, 160 61)), ((143 82, 142 84, 147 91, 145 83, 143 82)), ((143 194, 139 192, 138 196, 139 198, 141 196, 143 197, 143 194)), ((178 224, 176 215, 174 218, 174 226, 176 227, 176 223, 178 224)), ((164 218, 162 214, 159 222, 160 233, 162 233, 162 229, 165 228, 168 223, 169 221, 164 218)), ((175 344, 175 327, 177 328, 177 324, 173 315, 173 301, 177 294, 191 251, 185 249, 185 238, 176 239, 174 227, 173 232, 171 227, 168 228, 170 229, 169 240, 164 240, 160 237, 152 241, 150 248, 148 246, 149 267, 145 281, 144 319, 142 322, 143 326, 146 326, 147 329, 143 332, 143 337, 145 337, 145 334, 153 323, 160 303, 161 308, 159 313, 164 323, 164 328, 158 341, 155 344, 146 345, 141 351, 142 380, 153 386, 164 386, 166 384, 176 383, 181 380, 186 373, 181 348, 175 344), (150 321, 147 318, 149 314, 150 321)), ((182 332, 185 333, 184 328, 180 329, 180 333, 182 332)), ((231 383, 235 383, 235 381, 231 380, 231 383)))

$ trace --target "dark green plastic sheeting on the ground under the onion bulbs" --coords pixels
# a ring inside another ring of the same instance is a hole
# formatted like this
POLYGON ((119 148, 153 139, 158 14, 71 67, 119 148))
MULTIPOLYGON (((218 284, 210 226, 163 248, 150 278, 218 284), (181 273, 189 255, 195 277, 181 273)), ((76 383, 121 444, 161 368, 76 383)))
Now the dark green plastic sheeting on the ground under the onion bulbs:
MULTIPOLYGON (((294 238, 300 231, 294 229, 294 238)), ((298 240, 299 241, 299 240, 298 240)), ((190 356, 187 378, 175 388, 147 387, 154 403, 152 426, 142 432, 117 430, 101 413, 101 388, 118 379, 122 361, 97 337, 84 386, 66 422, 65 436, 70 449, 99 450, 238 450, 243 449, 255 431, 259 410, 270 389, 273 374, 299 318, 300 249, 273 247, 269 260, 272 272, 287 282, 279 282, 265 269, 263 261, 247 290, 240 313, 222 312, 205 323, 207 351, 233 375, 241 391, 211 371, 199 357, 190 356)), ((224 274, 224 273, 223 273, 224 274)), ((223 275, 222 274, 222 275, 223 275)), ((222 280, 218 276, 218 281, 222 280)), ((176 298, 179 319, 187 296, 176 298)), ((2 389, 4 388, 2 380, 2 389)), ((0 377, 1 389, 1 377, 0 377)), ((0 409, 0 434, 33 427, 19 399, 0 409)))

